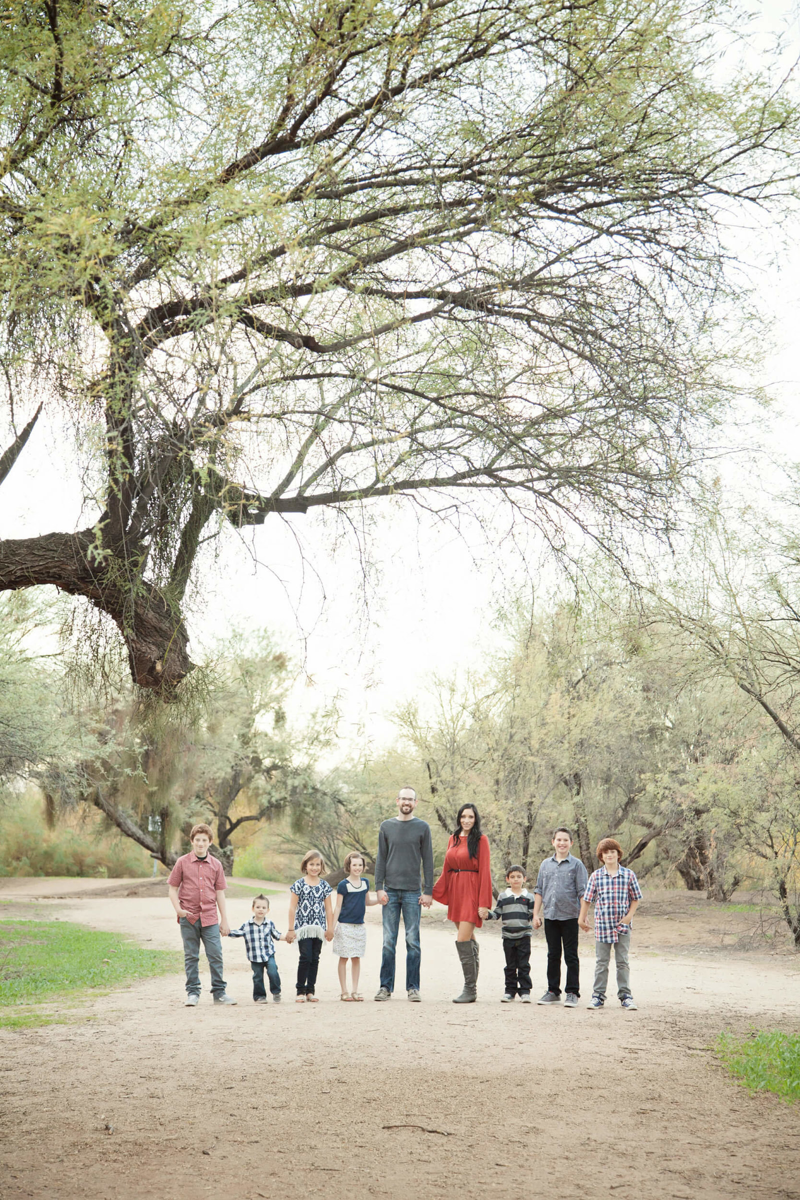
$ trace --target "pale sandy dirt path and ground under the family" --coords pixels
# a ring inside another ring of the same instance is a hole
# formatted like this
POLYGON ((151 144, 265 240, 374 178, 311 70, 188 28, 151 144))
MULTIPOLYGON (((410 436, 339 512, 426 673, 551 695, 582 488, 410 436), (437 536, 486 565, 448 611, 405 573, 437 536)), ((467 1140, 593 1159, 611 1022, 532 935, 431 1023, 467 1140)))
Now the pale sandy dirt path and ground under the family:
MULTIPOLYGON (((156 894, 42 882, 2 881, 12 902, 0 917, 180 946, 156 894)), ((229 908, 239 923, 249 901, 231 898, 229 908)), ((800 958, 733 948, 752 920, 685 894, 654 894, 643 910, 637 1013, 500 1004, 494 928, 480 935, 479 1003, 455 1007, 441 911, 423 918, 423 1002, 401 990, 375 1004, 373 911, 363 1004, 338 1001, 327 947, 321 1002, 295 1004, 296 949, 283 944, 284 1002, 253 1004, 237 941, 225 943, 236 1008, 212 1007, 204 991, 187 1009, 182 977, 169 976, 92 1000, 80 1010, 90 1020, 0 1032, 0 1196, 800 1200, 796 1106, 732 1084, 708 1049, 723 1027, 798 1030, 800 958)), ((278 928, 285 913, 276 895, 278 928)), ((531 958, 541 991, 541 935, 531 958)), ((584 1001, 593 958, 585 937, 584 1001)))

